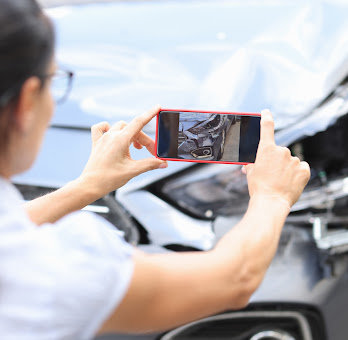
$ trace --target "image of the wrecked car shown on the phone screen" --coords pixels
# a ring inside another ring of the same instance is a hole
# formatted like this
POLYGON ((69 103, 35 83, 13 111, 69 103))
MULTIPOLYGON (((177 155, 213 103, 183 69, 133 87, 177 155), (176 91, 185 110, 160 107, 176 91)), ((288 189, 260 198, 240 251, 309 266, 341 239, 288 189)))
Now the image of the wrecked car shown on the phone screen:
POLYGON ((226 114, 180 113, 178 157, 220 160, 224 153, 226 136, 234 123, 235 117, 226 114))

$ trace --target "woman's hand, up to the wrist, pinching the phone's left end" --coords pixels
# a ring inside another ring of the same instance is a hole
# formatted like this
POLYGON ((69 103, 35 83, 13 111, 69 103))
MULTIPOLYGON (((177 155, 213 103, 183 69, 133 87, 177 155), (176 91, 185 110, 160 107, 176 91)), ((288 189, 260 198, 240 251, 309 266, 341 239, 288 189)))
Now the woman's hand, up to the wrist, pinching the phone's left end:
POLYGON ((134 118, 129 124, 118 122, 110 126, 106 122, 92 127, 92 151, 80 180, 92 186, 99 197, 116 190, 131 178, 143 172, 166 168, 167 162, 150 157, 133 160, 129 147, 141 149, 143 146, 156 154, 155 142, 141 130, 160 111, 156 107, 134 118))

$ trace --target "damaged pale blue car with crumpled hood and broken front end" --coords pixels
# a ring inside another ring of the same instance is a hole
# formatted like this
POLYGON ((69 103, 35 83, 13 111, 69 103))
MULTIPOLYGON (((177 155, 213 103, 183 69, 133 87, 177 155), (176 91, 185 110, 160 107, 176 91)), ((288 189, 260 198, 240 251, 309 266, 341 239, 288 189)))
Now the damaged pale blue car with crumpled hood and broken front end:
MULTIPOLYGON (((347 10, 343 2, 245 0, 109 1, 48 10, 57 25, 58 60, 77 79, 35 166, 15 178, 26 199, 80 174, 92 124, 129 120, 157 102, 215 111, 269 107, 277 143, 312 170, 247 308, 161 334, 100 338, 348 339, 347 10)), ((154 126, 146 131, 153 134, 154 126)), ((86 210, 146 252, 204 251, 240 220, 248 200, 239 166, 170 162, 86 210)))

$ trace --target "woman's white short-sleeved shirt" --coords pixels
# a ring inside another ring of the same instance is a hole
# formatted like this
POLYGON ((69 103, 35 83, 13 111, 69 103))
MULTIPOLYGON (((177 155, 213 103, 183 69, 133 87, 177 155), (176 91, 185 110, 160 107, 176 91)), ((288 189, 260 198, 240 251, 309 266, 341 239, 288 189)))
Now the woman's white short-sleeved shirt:
MULTIPOLYGON (((15 216, 8 217, 13 225, 15 216)), ((0 318, 14 304, 25 313, 13 316, 20 327, 2 323, 1 334, 21 338, 30 325, 30 334, 40 339, 51 338, 52 330, 54 338, 91 338, 127 291, 133 248, 91 213, 73 213, 40 227, 24 218, 16 223, 27 228, 0 237, 0 279, 7 297, 0 304, 0 318), (30 318, 33 311, 35 320, 30 318)))

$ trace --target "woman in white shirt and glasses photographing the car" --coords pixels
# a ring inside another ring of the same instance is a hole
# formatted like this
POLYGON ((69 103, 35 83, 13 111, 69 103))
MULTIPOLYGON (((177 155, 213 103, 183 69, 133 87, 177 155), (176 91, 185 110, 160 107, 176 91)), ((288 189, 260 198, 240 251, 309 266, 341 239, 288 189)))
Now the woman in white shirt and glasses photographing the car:
POLYGON ((146 255, 97 216, 70 213, 167 166, 129 155, 132 143, 154 154, 141 130, 158 108, 129 124, 94 126, 84 171, 60 190, 23 207, 10 183, 38 153, 53 113, 56 72, 52 25, 36 1, 0 0, 1 338, 163 330, 244 307, 309 178, 307 163, 275 145, 270 112, 262 114, 256 162, 245 168, 250 203, 243 219, 211 251, 146 255))

